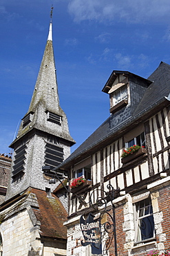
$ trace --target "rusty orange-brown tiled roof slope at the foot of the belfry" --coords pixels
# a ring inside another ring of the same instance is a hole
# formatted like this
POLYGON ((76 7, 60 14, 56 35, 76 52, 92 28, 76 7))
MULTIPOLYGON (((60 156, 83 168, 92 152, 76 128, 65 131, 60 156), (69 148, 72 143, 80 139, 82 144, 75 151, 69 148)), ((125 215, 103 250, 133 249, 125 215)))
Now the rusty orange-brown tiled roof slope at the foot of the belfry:
POLYGON ((32 188, 39 203, 39 210, 33 209, 36 218, 41 222, 41 236, 66 239, 67 229, 63 222, 67 220, 67 212, 59 198, 52 194, 47 197, 46 192, 32 188))

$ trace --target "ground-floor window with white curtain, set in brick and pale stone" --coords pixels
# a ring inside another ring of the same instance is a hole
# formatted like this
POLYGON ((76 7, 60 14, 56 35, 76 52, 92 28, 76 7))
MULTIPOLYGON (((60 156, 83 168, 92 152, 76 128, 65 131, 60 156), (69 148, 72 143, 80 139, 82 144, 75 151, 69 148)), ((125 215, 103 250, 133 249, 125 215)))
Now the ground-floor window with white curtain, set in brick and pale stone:
POLYGON ((154 222, 151 199, 147 198, 134 204, 135 244, 154 238, 154 222))

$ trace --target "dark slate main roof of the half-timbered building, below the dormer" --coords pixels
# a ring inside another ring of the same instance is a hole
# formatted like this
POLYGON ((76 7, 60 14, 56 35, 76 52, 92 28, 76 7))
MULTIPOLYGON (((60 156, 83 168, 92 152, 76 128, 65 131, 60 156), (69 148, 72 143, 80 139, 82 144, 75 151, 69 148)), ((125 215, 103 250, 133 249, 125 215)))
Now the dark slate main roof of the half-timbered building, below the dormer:
MULTIPOLYGON (((122 127, 127 126, 129 123, 133 122, 138 116, 142 116, 146 113, 146 110, 157 104, 159 100, 166 100, 164 97, 168 97, 170 93, 170 65, 164 62, 160 62, 160 65, 149 77, 148 80, 153 81, 151 85, 147 88, 145 94, 140 100, 138 107, 132 113, 130 118, 121 122, 117 127, 114 129, 110 129, 110 121, 111 117, 109 117, 105 122, 103 122, 94 133, 85 140, 70 156, 66 159, 59 167, 65 167, 68 165, 70 161, 74 158, 80 156, 81 154, 85 154, 85 152, 89 151, 90 148, 95 147, 102 140, 106 140, 111 134, 113 135, 116 131, 122 129, 122 127)), ((86 155, 87 156, 87 155, 86 155)))

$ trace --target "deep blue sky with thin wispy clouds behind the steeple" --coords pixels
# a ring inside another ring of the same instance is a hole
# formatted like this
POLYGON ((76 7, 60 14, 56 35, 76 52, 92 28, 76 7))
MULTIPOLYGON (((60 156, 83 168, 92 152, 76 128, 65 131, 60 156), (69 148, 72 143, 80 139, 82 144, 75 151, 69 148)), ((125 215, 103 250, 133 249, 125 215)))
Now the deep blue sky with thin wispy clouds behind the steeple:
POLYGON ((0 153, 28 111, 53 12, 53 46, 72 152, 109 117, 113 70, 147 78, 170 64, 169 0, 0 0, 0 153))

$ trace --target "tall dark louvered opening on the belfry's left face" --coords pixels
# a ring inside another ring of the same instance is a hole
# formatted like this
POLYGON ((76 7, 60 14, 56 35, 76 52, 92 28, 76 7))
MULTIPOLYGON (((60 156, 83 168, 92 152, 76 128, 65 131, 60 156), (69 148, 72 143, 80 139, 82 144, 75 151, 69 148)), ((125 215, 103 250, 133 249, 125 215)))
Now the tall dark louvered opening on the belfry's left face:
POLYGON ((24 162, 25 153, 26 153, 25 149, 27 149, 27 146, 23 145, 16 150, 16 155, 14 156, 14 166, 13 166, 12 177, 24 171, 23 165, 25 164, 24 162))

